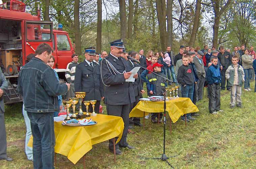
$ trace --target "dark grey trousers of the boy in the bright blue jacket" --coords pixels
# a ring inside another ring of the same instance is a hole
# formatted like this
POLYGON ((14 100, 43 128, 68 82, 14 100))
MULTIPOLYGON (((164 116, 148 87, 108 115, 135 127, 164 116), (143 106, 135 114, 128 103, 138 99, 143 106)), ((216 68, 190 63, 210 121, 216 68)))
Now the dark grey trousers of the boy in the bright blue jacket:
POLYGON ((209 95, 209 112, 219 111, 221 109, 221 88, 220 84, 208 84, 209 95))

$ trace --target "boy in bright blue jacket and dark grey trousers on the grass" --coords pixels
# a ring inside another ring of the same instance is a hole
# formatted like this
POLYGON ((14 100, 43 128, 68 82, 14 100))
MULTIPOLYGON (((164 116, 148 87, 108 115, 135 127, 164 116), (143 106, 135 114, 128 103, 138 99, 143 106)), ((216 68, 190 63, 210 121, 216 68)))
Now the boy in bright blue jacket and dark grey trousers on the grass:
POLYGON ((211 58, 211 66, 207 70, 207 80, 209 93, 209 111, 211 114, 217 114, 217 112, 223 112, 221 110, 221 71, 219 68, 218 58, 211 58))

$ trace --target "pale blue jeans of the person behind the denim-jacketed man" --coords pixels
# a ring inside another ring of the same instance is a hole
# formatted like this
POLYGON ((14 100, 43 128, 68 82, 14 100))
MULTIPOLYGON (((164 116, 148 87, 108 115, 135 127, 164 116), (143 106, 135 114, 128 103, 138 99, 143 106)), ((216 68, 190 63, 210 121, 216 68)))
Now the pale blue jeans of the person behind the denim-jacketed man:
POLYGON ((31 127, 30 127, 30 120, 28 118, 27 111, 24 110, 24 104, 23 104, 23 107, 22 107, 22 113, 23 113, 26 128, 27 128, 26 139, 25 139, 25 153, 27 155, 28 160, 33 160, 32 147, 28 146, 28 141, 30 139, 30 136, 32 135, 31 127))

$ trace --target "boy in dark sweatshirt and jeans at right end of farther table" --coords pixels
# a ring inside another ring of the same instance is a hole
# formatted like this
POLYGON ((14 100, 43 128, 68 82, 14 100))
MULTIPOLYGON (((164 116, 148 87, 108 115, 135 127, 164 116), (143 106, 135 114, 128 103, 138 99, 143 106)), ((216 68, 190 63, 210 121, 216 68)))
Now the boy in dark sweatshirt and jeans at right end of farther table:
MULTIPOLYGON (((181 85, 182 97, 188 97, 193 101, 195 75, 191 64, 189 65, 189 61, 190 57, 188 55, 182 57, 183 65, 178 70, 177 79, 181 85)), ((181 120, 185 121, 185 115, 181 116, 181 120)), ((195 118, 191 117, 191 114, 188 113, 186 120, 189 122, 190 120, 195 120, 195 118)))

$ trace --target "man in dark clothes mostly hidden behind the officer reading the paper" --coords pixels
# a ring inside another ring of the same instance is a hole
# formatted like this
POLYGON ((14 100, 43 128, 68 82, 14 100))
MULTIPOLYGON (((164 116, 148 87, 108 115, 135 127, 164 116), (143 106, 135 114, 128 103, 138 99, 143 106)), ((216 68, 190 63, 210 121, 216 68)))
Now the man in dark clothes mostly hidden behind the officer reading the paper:
MULTIPOLYGON (((130 54, 130 56, 133 59, 139 61, 139 54, 137 52, 132 52, 130 54)), ((128 60, 128 64, 132 68, 138 67, 131 60, 128 60)), ((134 90, 135 102, 131 103, 131 105, 130 105, 130 112, 138 104, 139 98, 141 98, 141 94, 145 93, 145 91, 143 90, 143 86, 142 86, 142 83, 140 82, 140 80, 141 80, 140 79, 140 71, 138 71, 138 78, 135 79, 135 81, 133 82, 133 90, 134 90)), ((140 124, 140 118, 139 117, 131 117, 129 119, 129 126, 132 126, 132 125, 142 126, 142 124, 140 124)))

